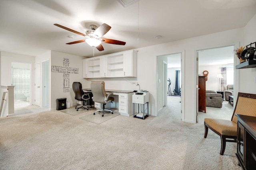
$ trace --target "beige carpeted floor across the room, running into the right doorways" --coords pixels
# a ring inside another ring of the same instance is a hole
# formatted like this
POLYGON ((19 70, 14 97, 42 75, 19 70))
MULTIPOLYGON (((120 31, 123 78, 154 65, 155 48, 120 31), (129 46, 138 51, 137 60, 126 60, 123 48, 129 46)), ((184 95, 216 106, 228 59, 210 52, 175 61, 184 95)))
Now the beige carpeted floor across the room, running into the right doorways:
POLYGON ((197 124, 180 119, 180 98, 145 120, 118 115, 101 124, 79 119, 93 111, 28 113, 0 119, 0 169, 3 170, 240 170, 236 144, 223 156, 220 137, 204 117, 230 119, 232 106, 207 107, 197 124), (224 112, 222 112, 224 110, 224 112))

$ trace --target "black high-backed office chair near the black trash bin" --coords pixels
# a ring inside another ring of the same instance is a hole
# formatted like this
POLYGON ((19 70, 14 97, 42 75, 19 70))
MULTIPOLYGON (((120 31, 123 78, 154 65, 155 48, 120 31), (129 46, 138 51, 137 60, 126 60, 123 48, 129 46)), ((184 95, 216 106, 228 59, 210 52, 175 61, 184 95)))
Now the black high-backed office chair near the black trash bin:
MULTIPOLYGON (((83 103, 82 105, 78 105, 75 107, 76 111, 78 111, 78 109, 80 109, 80 108, 89 110, 89 107, 86 106, 85 103, 86 103, 86 100, 88 100, 88 102, 89 102, 89 99, 90 99, 90 96, 92 96, 92 93, 84 92, 82 90, 82 84, 80 82, 73 82, 72 87, 73 87, 73 91, 75 93, 75 99, 78 101, 81 101, 83 103)), ((89 105, 89 103, 88 103, 88 105, 89 105)))

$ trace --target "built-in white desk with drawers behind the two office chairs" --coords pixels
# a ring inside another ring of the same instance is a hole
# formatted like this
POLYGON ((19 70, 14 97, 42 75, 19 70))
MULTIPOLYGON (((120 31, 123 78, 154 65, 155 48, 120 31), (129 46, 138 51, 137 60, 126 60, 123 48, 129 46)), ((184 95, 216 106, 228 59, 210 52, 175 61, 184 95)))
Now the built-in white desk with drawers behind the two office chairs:
MULTIPOLYGON (((90 88, 83 88, 85 92, 90 92, 90 88)), ((115 108, 119 110, 120 115, 130 116, 133 115, 133 105, 132 105, 132 95, 133 91, 130 90, 109 90, 106 89, 106 92, 113 93, 114 102, 108 103, 111 104, 111 108, 115 108)), ((101 108, 100 103, 94 102, 94 107, 101 108)))

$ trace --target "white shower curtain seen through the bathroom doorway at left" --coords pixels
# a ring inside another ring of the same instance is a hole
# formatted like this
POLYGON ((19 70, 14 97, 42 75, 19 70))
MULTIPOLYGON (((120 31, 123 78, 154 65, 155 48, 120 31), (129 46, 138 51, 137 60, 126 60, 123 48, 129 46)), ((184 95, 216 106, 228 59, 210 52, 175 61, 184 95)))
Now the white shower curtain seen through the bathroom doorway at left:
POLYGON ((30 70, 12 68, 12 85, 14 87, 14 99, 26 98, 24 94, 30 93, 30 70))

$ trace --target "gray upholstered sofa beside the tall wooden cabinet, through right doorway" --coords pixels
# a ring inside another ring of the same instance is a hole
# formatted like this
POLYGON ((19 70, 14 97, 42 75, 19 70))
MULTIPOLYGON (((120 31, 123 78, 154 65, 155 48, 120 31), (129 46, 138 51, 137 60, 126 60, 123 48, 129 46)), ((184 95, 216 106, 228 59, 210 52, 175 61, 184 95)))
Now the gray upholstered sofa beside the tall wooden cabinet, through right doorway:
POLYGON ((222 94, 217 93, 215 90, 206 90, 206 106, 221 108, 222 102, 222 94))

